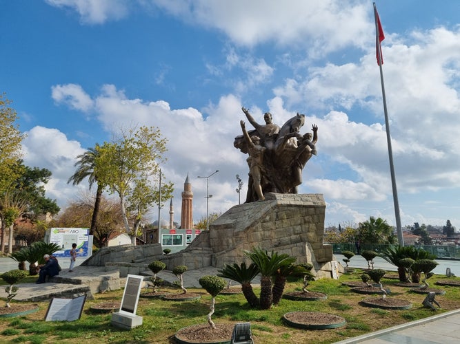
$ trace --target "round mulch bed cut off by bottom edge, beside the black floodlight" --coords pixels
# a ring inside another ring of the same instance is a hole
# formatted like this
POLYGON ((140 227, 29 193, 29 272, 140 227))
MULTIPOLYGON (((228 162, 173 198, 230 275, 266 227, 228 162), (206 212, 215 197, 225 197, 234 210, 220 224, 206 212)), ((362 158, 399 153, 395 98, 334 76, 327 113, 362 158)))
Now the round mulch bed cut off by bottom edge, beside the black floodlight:
POLYGON ((216 328, 208 323, 183 327, 175 336, 175 343, 230 343, 234 324, 217 323, 216 328))

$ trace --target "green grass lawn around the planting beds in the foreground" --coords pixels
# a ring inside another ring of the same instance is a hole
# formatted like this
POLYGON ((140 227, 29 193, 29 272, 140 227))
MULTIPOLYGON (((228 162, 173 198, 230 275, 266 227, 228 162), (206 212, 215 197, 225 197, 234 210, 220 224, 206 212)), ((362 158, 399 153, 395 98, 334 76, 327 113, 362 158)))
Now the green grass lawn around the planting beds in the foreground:
MULTIPOLYGON (((394 286, 397 280, 382 279, 383 287, 390 289, 387 297, 404 299, 412 303, 410 310, 381 310, 366 308, 359 302, 372 295, 357 294, 343 281, 360 281, 361 270, 343 275, 339 280, 321 279, 312 281, 308 290, 324 292, 328 299, 323 301, 290 301, 282 299, 270 310, 252 310, 243 294, 218 295, 216 310, 212 315, 214 323, 251 323, 256 343, 334 343, 367 332, 423 319, 427 316, 460 308, 460 287, 436 286, 436 281, 447 279, 434 275, 429 279, 430 287, 446 290, 436 299, 442 309, 433 312, 423 308, 421 302, 426 294, 416 294, 408 288, 394 286), (283 314, 293 311, 326 312, 343 316, 347 324, 330 330, 300 330, 286 326, 281 320, 283 314)), ((301 281, 286 284, 286 290, 301 290, 301 281)), ((3 287, 2 287, 3 288, 3 287)), ((161 289, 161 288, 160 288, 161 289)), ((163 288, 161 290, 165 290, 163 288)), ((168 289, 180 292, 178 289, 168 289)), ((254 288, 256 294, 259 290, 254 288)), ((143 290, 142 292, 148 290, 143 290)), ((110 325, 110 314, 94 314, 91 305, 106 301, 121 301, 123 292, 107 292, 94 295, 87 300, 81 319, 72 322, 45 322, 48 302, 40 302, 39 312, 19 318, 0 318, 1 343, 170 343, 169 338, 182 327, 206 323, 211 297, 203 289, 188 288, 189 292, 201 293, 201 299, 194 301, 162 301, 160 299, 139 299, 137 314, 143 316, 143 325, 133 330, 119 330, 110 325)), ((374 295, 374 297, 379 297, 374 295)), ((13 301, 14 302, 14 301, 13 301)))

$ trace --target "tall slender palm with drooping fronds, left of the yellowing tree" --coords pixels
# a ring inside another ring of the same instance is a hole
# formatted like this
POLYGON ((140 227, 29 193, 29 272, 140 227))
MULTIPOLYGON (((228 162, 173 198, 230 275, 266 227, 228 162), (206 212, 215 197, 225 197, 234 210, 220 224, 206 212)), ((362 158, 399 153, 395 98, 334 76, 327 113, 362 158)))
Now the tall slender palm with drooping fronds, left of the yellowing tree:
POLYGON ((96 173, 96 159, 99 155, 99 144, 96 144, 94 148, 88 148, 88 150, 77 156, 78 161, 75 162, 74 166, 77 167, 75 173, 69 178, 68 183, 72 182, 72 185, 80 184, 84 179, 88 178, 90 183, 90 190, 94 182, 97 184, 96 200, 94 201, 94 209, 92 211, 90 235, 96 230, 97 215, 99 214, 99 206, 101 204, 101 196, 103 191, 103 185, 97 180, 96 173))

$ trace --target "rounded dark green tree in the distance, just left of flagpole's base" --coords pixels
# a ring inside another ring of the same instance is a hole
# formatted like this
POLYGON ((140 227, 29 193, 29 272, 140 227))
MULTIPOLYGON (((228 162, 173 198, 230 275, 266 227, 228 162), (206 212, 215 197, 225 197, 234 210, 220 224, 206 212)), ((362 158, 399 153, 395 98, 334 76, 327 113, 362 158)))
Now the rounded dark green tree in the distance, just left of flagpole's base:
POLYGON ((361 244, 395 244, 397 237, 393 228, 385 219, 373 216, 368 221, 361 222, 358 226, 357 235, 361 244))

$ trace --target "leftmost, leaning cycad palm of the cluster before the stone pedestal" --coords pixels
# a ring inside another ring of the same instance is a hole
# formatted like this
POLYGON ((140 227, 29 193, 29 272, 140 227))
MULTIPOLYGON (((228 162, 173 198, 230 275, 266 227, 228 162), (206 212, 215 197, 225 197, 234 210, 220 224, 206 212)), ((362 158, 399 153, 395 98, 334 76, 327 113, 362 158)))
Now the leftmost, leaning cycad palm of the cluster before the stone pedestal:
POLYGON ((251 286, 251 281, 259 274, 259 268, 254 263, 250 264, 250 266, 246 266, 244 262, 241 265, 236 263, 233 265, 227 264, 224 268, 217 270, 217 272, 219 272, 217 276, 231 279, 241 284, 243 295, 246 297, 246 301, 248 301, 251 308, 259 306, 259 299, 254 294, 251 286))

